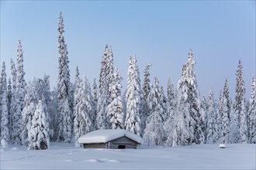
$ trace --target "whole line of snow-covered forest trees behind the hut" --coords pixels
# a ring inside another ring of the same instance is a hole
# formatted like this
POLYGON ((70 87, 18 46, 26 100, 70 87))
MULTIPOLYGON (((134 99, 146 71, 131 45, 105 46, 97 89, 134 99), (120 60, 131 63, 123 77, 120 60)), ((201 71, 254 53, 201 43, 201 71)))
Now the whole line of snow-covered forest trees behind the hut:
POLYGON ((99 85, 91 83, 76 69, 70 80, 64 22, 58 24, 59 60, 57 88, 50 90, 49 76, 24 79, 22 43, 19 40, 16 63, 11 59, 12 76, 7 79, 5 62, 0 76, 0 140, 25 145, 29 149, 47 149, 50 141, 72 142, 97 129, 126 129, 144 139, 144 146, 192 145, 203 143, 256 142, 255 78, 251 96, 245 98, 243 66, 238 61, 236 91, 232 100, 225 80, 218 100, 209 90, 199 99, 192 51, 182 66, 182 76, 175 88, 168 80, 167 96, 157 77, 150 81, 150 64, 140 71, 136 56, 130 56, 127 87, 122 93, 122 77, 113 64, 111 46, 102 55, 99 85))

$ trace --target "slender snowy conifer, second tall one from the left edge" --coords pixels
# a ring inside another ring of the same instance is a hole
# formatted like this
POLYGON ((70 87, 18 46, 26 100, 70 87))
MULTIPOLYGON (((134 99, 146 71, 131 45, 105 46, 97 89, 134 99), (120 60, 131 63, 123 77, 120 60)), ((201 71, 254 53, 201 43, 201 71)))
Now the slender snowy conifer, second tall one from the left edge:
POLYGON ((12 100, 10 104, 10 122, 9 122, 9 133, 10 133, 10 141, 12 143, 15 142, 15 136, 16 136, 16 131, 15 129, 15 124, 14 122, 16 121, 16 77, 17 77, 17 70, 15 63, 11 59, 11 73, 12 73, 12 100))

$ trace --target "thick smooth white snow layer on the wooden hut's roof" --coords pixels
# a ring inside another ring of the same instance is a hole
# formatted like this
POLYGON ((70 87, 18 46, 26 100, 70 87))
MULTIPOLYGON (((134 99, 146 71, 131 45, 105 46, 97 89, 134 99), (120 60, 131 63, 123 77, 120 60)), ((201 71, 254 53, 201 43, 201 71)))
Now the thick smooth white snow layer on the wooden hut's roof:
POLYGON ((78 142, 80 144, 106 143, 123 136, 126 136, 127 138, 142 144, 143 139, 140 138, 140 136, 123 129, 102 129, 91 131, 88 134, 82 135, 80 138, 78 138, 78 142))

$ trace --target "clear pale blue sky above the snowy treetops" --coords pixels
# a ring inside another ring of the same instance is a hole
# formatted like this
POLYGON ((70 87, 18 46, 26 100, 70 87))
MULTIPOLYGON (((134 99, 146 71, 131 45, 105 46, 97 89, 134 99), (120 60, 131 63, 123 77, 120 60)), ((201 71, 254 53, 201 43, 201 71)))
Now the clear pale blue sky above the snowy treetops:
POLYGON ((26 81, 50 76, 57 86, 59 15, 70 60, 90 83, 99 80, 106 44, 114 65, 127 83, 129 57, 137 56, 140 80, 151 63, 150 80, 157 76, 165 93, 168 79, 177 86, 187 53, 194 53, 200 97, 213 88, 218 98, 227 78, 234 99, 238 60, 244 66, 246 97, 255 75, 255 1, 1 1, 1 61, 10 75, 22 41, 26 81))

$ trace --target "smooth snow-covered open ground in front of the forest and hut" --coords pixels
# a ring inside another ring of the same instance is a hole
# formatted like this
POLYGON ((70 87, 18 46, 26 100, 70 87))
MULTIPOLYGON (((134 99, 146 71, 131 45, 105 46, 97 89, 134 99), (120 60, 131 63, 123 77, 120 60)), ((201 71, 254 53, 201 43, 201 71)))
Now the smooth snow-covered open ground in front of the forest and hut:
POLYGON ((44 151, 1 148, 0 169, 255 169, 255 145, 84 149, 50 143, 44 151))

